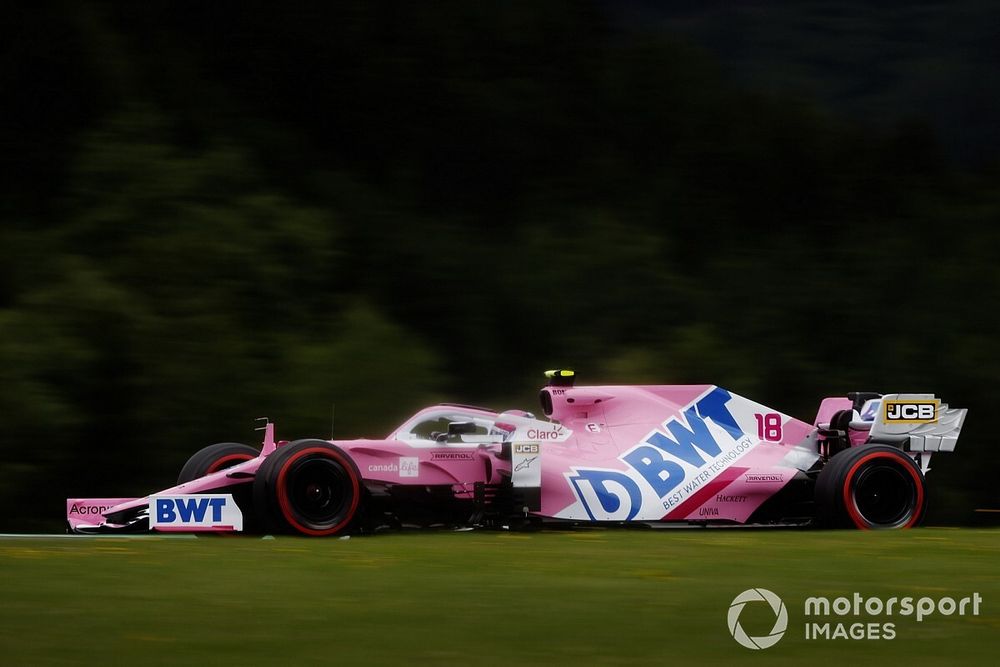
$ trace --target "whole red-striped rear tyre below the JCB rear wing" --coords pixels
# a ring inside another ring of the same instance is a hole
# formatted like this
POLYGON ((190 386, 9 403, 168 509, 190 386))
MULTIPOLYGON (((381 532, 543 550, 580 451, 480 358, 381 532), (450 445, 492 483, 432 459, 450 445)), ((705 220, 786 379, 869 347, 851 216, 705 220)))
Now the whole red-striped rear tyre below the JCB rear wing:
POLYGON ((833 528, 912 528, 927 510, 924 476, 888 445, 851 447, 833 456, 816 480, 817 518, 833 528))

